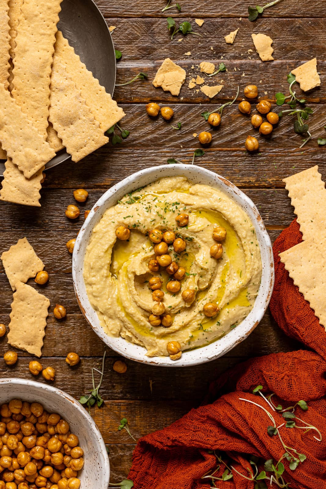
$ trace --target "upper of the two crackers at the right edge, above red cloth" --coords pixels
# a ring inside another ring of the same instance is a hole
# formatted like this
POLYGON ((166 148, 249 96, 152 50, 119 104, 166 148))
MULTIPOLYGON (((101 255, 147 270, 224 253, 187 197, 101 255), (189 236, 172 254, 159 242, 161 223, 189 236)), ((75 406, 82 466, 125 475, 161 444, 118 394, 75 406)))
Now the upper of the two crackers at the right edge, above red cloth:
POLYGON ((318 166, 283 178, 283 182, 297 215, 303 239, 312 239, 316 233, 326 236, 326 189, 318 166))

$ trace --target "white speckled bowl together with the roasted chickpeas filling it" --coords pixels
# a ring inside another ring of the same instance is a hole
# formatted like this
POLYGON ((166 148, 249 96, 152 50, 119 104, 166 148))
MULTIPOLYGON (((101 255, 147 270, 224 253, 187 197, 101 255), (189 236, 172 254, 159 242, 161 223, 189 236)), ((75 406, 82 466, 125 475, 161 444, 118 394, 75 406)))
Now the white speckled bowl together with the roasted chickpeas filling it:
POLYGON ((0 379, 0 489, 109 486, 103 438, 78 401, 55 387, 0 379))

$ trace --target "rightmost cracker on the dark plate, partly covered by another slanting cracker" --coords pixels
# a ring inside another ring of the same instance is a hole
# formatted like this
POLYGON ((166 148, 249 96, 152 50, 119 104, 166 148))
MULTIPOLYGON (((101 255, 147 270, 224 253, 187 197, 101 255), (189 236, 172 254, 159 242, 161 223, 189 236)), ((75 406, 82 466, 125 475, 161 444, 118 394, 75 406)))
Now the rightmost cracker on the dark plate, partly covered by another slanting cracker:
POLYGON ((55 53, 60 57, 61 64, 65 67, 68 77, 75 82, 86 104, 100 123, 100 128, 105 133, 108 129, 126 114, 118 107, 111 95, 106 92, 93 74, 87 70, 80 57, 75 53, 61 31, 56 34, 55 53))

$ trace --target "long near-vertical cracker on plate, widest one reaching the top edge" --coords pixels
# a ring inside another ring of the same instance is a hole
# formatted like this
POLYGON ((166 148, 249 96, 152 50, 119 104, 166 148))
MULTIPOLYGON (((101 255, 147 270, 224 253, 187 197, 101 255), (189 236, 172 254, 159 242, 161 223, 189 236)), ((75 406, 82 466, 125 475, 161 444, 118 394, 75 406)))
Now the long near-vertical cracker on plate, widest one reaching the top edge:
POLYGON ((16 27, 12 95, 44 139, 60 3, 61 0, 24 0, 16 27))

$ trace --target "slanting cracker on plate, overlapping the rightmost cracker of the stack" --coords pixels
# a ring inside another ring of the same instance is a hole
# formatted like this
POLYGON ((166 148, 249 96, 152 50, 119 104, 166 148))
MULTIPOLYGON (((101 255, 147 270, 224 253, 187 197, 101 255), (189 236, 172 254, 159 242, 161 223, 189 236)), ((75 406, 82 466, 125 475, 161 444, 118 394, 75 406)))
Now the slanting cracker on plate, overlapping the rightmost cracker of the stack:
POLYGON ((79 161, 109 141, 57 54, 51 74, 50 117, 72 161, 79 161))

